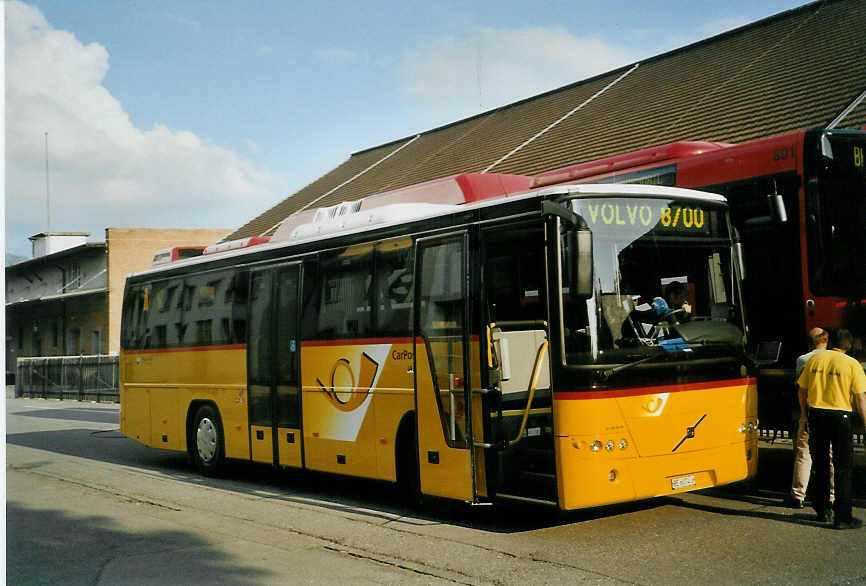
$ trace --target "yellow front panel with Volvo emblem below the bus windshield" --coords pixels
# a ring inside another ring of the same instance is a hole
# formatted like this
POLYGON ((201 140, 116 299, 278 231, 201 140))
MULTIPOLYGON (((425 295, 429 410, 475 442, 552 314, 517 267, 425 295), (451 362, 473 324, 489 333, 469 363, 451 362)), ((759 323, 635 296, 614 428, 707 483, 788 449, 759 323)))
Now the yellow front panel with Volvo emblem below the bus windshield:
POLYGON ((563 509, 676 494, 757 473, 754 379, 555 393, 553 410, 563 509))

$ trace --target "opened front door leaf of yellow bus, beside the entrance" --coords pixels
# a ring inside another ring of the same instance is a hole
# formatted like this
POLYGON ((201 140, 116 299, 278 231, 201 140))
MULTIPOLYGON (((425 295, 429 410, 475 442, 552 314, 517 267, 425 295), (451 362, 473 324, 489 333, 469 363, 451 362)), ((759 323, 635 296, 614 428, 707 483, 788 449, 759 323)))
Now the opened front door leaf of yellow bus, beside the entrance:
POLYGON ((472 501, 476 492, 467 234, 419 240, 415 262, 415 401, 421 492, 472 501))

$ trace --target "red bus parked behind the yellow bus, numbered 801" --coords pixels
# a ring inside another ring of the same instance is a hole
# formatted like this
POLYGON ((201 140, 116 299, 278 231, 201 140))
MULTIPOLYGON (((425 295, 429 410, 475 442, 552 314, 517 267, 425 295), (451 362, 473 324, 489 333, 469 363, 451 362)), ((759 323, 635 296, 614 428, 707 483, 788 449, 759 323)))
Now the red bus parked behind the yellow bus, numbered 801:
POLYGON ((850 329, 855 356, 866 359, 866 132, 678 142, 541 173, 533 187, 564 182, 688 187, 727 198, 745 256, 752 351, 762 342, 774 350, 762 369, 765 389, 793 388, 795 358, 814 326, 850 329))

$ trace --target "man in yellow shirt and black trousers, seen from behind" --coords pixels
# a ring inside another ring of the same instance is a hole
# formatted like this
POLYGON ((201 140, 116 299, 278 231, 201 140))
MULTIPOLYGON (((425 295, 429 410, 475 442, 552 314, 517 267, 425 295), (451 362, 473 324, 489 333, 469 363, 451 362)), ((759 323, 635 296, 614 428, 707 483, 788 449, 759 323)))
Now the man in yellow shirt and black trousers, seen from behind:
POLYGON ((835 518, 836 529, 856 529, 863 523, 852 515, 854 446, 853 408, 866 418, 866 374, 846 355, 853 338, 848 330, 830 331, 830 352, 809 359, 797 384, 800 407, 808 409, 809 451, 815 469, 815 512, 818 520, 835 518), (830 446, 836 501, 830 504, 830 446))

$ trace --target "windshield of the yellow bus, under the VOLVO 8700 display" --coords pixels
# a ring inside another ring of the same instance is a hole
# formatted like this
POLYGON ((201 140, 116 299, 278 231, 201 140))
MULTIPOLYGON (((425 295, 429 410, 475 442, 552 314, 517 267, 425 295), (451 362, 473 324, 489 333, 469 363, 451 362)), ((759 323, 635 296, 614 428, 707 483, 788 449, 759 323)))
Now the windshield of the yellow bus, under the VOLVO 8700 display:
MULTIPOLYGON (((594 293, 573 299, 563 292, 568 363, 742 352, 725 207, 635 198, 579 199, 572 206, 592 231, 594 293)), ((563 266, 573 266, 568 246, 563 250, 563 266)))

